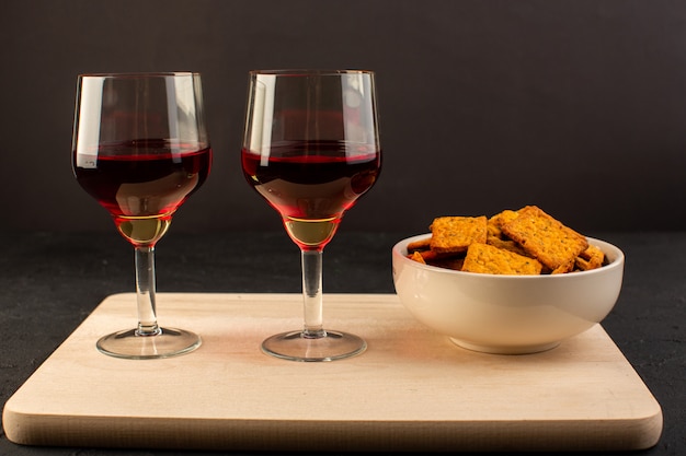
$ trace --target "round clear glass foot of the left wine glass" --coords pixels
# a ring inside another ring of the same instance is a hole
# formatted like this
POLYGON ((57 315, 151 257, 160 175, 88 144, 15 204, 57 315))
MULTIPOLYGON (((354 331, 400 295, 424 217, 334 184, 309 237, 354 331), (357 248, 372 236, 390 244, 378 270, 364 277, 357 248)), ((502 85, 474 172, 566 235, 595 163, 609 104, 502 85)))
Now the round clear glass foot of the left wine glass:
POLYGON ((127 360, 153 360, 190 353, 202 343, 194 332, 176 328, 160 328, 153 336, 139 336, 127 329, 101 338, 98 350, 110 356, 127 360))

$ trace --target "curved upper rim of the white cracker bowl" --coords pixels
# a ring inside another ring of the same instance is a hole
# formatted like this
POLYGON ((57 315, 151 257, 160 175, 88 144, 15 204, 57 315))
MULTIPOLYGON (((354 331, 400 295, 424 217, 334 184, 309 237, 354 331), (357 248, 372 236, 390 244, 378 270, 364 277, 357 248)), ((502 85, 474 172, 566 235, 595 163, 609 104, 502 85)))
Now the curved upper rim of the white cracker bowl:
POLYGON ((482 272, 469 272, 469 271, 458 271, 455 269, 442 268, 438 266, 423 265, 419 261, 414 261, 413 259, 408 258, 408 249, 407 246, 411 242, 421 241, 426 237, 431 237, 431 233, 418 234, 414 236, 405 237, 393 245, 391 249, 391 254, 393 258, 398 258, 400 261, 408 261, 407 265, 411 265, 412 267, 424 269, 427 271, 436 272, 436 273, 445 273, 445 274, 455 274, 462 277, 475 277, 475 278, 489 278, 490 280, 512 280, 516 278, 517 280, 571 280, 572 278, 579 278, 583 276, 593 276, 598 273, 608 272, 610 270, 617 268, 624 268, 625 262, 625 254, 624 252, 617 247, 616 245, 608 243, 607 241, 603 241, 596 237, 584 236, 588 244, 595 245, 599 247, 606 256, 611 257, 611 261, 608 265, 605 265, 601 268, 591 269, 587 271, 575 271, 575 272, 567 272, 559 274, 536 274, 536 276, 517 276, 517 274, 490 274, 482 272))

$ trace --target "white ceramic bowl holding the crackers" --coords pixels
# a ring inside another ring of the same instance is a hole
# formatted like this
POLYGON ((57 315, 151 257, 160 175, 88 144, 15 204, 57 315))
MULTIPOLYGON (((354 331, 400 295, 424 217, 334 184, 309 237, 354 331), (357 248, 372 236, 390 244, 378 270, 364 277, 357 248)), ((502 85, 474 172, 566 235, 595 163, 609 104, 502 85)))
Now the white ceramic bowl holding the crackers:
POLYGON ((557 347, 599 323, 615 306, 624 277, 624 253, 588 237, 609 264, 554 276, 496 276, 423 265, 392 248, 393 283, 416 319, 460 347, 489 353, 534 353, 557 347))

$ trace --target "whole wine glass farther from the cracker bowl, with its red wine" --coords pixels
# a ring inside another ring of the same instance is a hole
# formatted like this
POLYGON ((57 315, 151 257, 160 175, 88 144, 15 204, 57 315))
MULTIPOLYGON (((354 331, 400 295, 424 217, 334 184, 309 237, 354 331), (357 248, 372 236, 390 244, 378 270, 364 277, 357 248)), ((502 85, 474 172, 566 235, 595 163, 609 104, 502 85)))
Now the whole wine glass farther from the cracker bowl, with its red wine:
POLYGON ((135 250, 138 326, 102 337, 101 352, 156 359, 201 346, 196 334, 157 323, 155 246, 210 165, 198 73, 78 77, 73 173, 135 250))

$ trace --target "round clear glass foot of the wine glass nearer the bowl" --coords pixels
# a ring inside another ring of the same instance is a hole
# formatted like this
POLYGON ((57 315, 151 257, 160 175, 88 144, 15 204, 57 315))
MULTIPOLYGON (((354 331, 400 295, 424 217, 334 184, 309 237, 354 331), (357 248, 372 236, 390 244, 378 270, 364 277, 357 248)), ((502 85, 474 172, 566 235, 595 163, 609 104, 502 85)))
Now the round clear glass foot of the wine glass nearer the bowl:
POLYGON ((282 360, 318 362, 355 356, 367 349, 362 338, 341 331, 327 330, 327 336, 305 337, 302 331, 282 332, 262 342, 262 351, 282 360))

